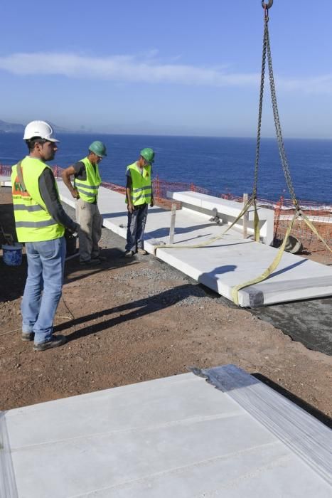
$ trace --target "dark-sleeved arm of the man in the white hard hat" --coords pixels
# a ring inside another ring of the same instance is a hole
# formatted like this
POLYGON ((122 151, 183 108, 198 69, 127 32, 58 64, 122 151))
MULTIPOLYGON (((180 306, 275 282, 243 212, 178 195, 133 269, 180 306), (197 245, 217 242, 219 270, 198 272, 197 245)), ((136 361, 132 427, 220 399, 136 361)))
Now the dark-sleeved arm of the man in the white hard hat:
POLYGON ((53 220, 60 223, 60 225, 65 226, 65 228, 68 228, 71 232, 76 232, 80 226, 65 213, 63 206, 60 203, 58 190, 55 186, 53 172, 50 169, 44 169, 39 177, 38 185, 41 198, 45 202, 46 209, 53 220))

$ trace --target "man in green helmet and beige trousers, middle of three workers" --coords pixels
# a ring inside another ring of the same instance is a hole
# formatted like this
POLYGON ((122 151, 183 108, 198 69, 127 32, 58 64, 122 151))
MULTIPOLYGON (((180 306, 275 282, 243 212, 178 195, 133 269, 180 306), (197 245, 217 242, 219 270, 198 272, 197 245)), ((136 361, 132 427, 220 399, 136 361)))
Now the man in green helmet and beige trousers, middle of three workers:
POLYGON ((107 156, 105 144, 96 140, 89 147, 87 157, 63 171, 63 181, 77 199, 76 218, 80 223, 80 264, 100 265, 105 256, 100 255, 98 243, 102 236, 102 216, 97 206, 98 188, 102 183, 98 164, 107 156), (74 185, 70 176, 75 176, 74 185))

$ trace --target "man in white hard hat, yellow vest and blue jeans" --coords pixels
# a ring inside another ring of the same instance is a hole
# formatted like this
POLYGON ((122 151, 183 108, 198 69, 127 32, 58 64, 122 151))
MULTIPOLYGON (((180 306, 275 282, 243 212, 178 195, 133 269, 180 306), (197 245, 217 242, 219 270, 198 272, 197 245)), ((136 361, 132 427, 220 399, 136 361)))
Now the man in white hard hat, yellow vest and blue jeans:
POLYGON ((53 336, 53 319, 63 287, 65 228, 75 233, 80 227, 63 210, 53 171, 45 164, 58 149, 52 127, 45 121, 30 122, 23 139, 29 155, 11 174, 16 233, 26 243, 28 260, 21 338, 34 340, 33 349, 44 351, 66 341, 53 336))

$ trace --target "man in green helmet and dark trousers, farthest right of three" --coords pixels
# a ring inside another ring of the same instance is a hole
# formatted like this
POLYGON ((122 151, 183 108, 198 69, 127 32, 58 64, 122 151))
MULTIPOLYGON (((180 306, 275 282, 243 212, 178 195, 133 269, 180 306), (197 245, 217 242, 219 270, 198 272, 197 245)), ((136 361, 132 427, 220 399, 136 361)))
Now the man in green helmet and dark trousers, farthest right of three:
POLYGON ((135 253, 147 254, 144 249, 144 229, 148 206, 154 206, 151 185, 151 164, 154 151, 149 147, 142 149, 139 159, 127 166, 126 202, 128 210, 126 258, 135 253))

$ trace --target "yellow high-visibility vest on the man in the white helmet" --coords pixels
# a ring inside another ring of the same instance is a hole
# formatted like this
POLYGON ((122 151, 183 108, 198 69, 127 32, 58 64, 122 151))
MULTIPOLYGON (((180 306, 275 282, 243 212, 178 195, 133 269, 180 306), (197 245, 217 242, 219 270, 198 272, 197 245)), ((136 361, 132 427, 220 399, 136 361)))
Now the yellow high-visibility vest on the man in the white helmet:
MULTIPOLYGON (((34 157, 27 156, 21 161, 26 191, 18 179, 17 164, 12 168, 11 187, 18 242, 53 240, 65 233, 65 227, 57 223, 48 213, 39 191, 39 177, 45 168, 50 169, 47 164, 34 157)), ((56 184, 55 186, 58 189, 56 184)))

